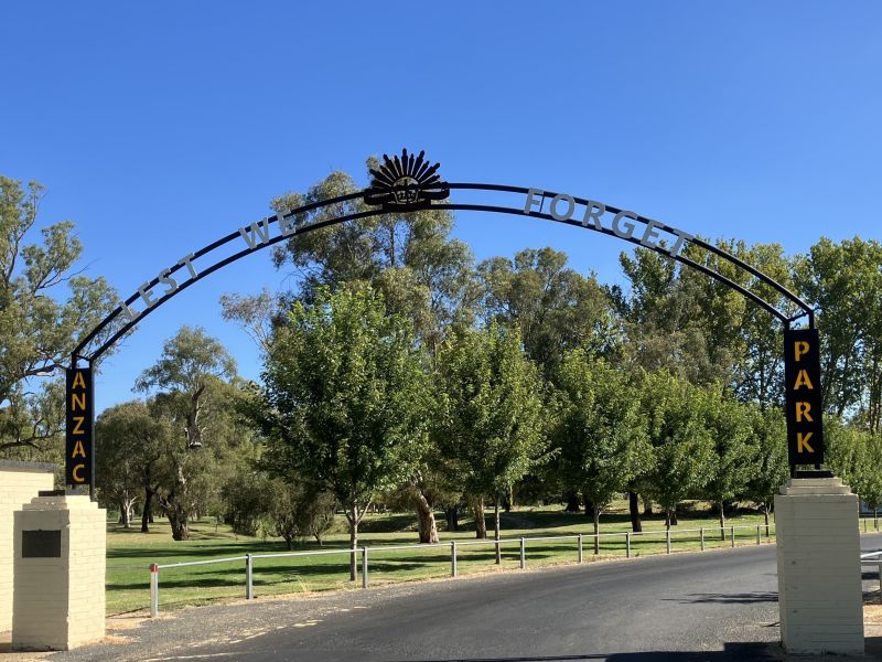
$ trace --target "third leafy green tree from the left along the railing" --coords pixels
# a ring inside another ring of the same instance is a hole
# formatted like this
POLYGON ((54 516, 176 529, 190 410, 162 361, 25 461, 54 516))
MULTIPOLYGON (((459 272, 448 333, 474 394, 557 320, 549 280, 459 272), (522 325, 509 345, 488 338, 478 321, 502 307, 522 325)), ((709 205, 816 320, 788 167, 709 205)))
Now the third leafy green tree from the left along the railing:
POLYGON ((559 471, 591 504, 599 554, 601 512, 650 459, 639 401, 626 375, 584 350, 564 355, 556 386, 559 471))

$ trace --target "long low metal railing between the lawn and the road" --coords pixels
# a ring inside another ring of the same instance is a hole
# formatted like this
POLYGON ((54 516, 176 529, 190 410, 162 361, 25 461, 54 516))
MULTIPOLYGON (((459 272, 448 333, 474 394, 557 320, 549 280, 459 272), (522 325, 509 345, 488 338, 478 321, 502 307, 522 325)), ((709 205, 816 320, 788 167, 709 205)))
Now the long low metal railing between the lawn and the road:
POLYGON ((665 537, 665 553, 670 554, 673 551, 674 542, 677 540, 671 536, 671 533, 676 534, 677 537, 682 540, 680 534, 687 533, 697 533, 700 544, 700 549, 703 552, 707 546, 708 535, 717 534, 720 536, 718 540, 725 542, 727 534, 729 534, 729 542, 730 546, 735 546, 735 531, 736 530, 744 530, 750 528, 751 531, 756 532, 756 544, 762 544, 762 533, 765 530, 766 542, 770 542, 770 527, 774 526, 771 524, 766 526, 765 524, 756 524, 756 525, 735 525, 735 526, 702 526, 700 528, 681 528, 671 532, 670 528, 662 530, 662 531, 643 531, 643 532, 615 532, 615 533, 576 533, 576 534, 566 534, 566 535, 542 535, 542 536, 535 536, 535 537, 527 537, 520 536, 516 538, 499 538, 499 540, 480 540, 480 541, 451 541, 449 543, 431 543, 431 544, 411 544, 411 545, 376 545, 373 547, 364 546, 364 547, 354 547, 354 548, 344 548, 344 549, 321 549, 315 552, 279 552, 273 554, 245 554, 241 556, 228 556, 225 558, 208 558, 205 560, 187 560, 182 563, 170 563, 170 564, 151 564, 150 568, 150 616, 155 618, 159 615, 159 572, 160 570, 171 570, 175 568, 183 568, 189 566, 203 566, 203 565, 212 565, 212 564, 220 564, 220 563, 236 563, 236 562, 245 562, 245 598, 248 600, 254 599, 254 575, 255 575, 255 560, 257 559, 265 559, 265 558, 288 558, 288 557, 298 557, 298 556, 325 556, 325 555, 347 555, 353 560, 356 562, 356 567, 358 562, 361 560, 361 579, 362 579, 362 588, 368 587, 368 559, 372 553, 383 553, 383 552, 397 552, 397 551, 422 551, 422 549, 431 549, 431 548, 441 548, 447 547, 450 549, 450 576, 456 577, 458 576, 458 552, 462 547, 472 547, 472 546, 493 546, 496 551, 496 558, 499 558, 502 546, 503 545, 519 545, 519 563, 520 569, 525 569, 527 567, 527 543, 537 543, 537 542, 547 542, 547 541, 576 541, 576 552, 577 552, 577 563, 584 562, 584 543, 585 541, 591 541, 593 543, 594 538, 600 542, 601 538, 619 538, 624 542, 625 548, 625 558, 632 557, 632 543, 635 538, 647 538, 652 536, 664 536, 665 537), (361 557, 361 559, 359 559, 361 557))

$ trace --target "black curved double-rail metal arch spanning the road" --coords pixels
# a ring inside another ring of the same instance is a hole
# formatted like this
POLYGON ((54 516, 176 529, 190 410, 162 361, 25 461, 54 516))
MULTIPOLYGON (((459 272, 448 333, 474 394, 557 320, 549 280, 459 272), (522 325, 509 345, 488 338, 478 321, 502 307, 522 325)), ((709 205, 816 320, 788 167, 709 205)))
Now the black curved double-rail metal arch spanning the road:
MULTIPOLYGON (((494 192, 502 192, 502 193, 527 194, 530 191, 530 189, 525 188, 525 186, 512 186, 512 185, 505 185, 505 184, 485 184, 485 183, 456 182, 456 183, 450 183, 448 185, 450 186, 450 189, 494 191, 494 192)), ((337 203, 341 203, 341 202, 347 202, 347 201, 361 199, 361 197, 364 196, 364 194, 365 194, 365 191, 357 191, 357 192, 354 192, 354 193, 347 193, 345 195, 338 195, 336 197, 331 197, 329 200, 322 200, 322 201, 319 201, 319 202, 313 202, 313 203, 310 203, 310 204, 306 204, 306 205, 302 205, 302 206, 300 206, 300 207, 298 207, 295 210, 291 210, 291 211, 286 212, 283 214, 276 214, 275 216, 268 216, 268 217, 266 217, 266 218, 263 218, 261 221, 263 221, 266 223, 266 225, 270 225, 273 222, 278 223, 281 218, 288 218, 290 216, 297 216, 297 215, 300 215, 300 214, 304 214, 304 213, 308 213, 308 212, 311 212, 311 211, 320 210, 320 209, 323 209, 323 207, 326 207, 326 206, 330 206, 330 205, 333 205, 333 204, 337 204, 337 203)), ((551 191, 544 191, 544 195, 545 196, 553 196, 556 194, 557 193, 551 192, 551 191)), ((588 199, 584 199, 584 197, 572 196, 572 199, 576 202, 580 203, 580 204, 588 204, 589 203, 588 199)), ((560 220, 553 218, 548 213, 542 213, 542 212, 538 212, 538 211, 534 211, 534 210, 530 210, 529 212, 525 212, 524 209, 502 206, 502 205, 487 205, 487 204, 473 204, 473 203, 443 203, 443 204, 435 203, 435 204, 431 204, 431 205, 429 205, 429 204, 419 205, 419 206, 416 206, 416 207, 412 207, 412 209, 408 209, 408 210, 405 210, 405 211, 424 211, 424 210, 476 211, 476 212, 493 212, 493 213, 499 213, 499 214, 510 214, 510 215, 515 215, 515 216, 530 216, 530 217, 536 217, 536 218, 542 218, 545 221, 552 221, 552 222, 556 222, 556 223, 562 223, 562 224, 566 224, 566 225, 572 225, 572 226, 576 226, 576 227, 581 227, 583 229, 591 229, 593 232, 599 232, 599 233, 602 233, 602 234, 605 234, 605 235, 609 235, 609 236, 613 236, 613 237, 615 237, 617 239, 623 239, 623 241, 626 241, 628 243, 635 244, 637 246, 642 246, 639 239, 636 239, 634 237, 620 237, 612 229, 598 228, 598 227, 593 227, 593 226, 589 227, 589 226, 582 225, 578 221, 572 221, 572 220, 560 221, 560 220)), ((620 210, 617 207, 610 206, 610 205, 605 205, 605 210, 607 212, 613 213, 613 214, 617 214, 617 213, 620 213, 622 211, 622 210, 620 210)), ((87 356, 84 355, 83 354, 84 348, 86 348, 89 342, 92 342, 104 329, 106 329, 108 324, 110 324, 115 319, 117 319, 120 314, 123 313, 123 306, 127 307, 127 306, 133 303, 139 298, 140 295, 138 292, 136 292, 136 293, 131 295, 130 297, 128 297, 127 299, 125 299, 122 305, 118 306, 112 312, 110 312, 110 314, 108 314, 104 320, 101 320, 101 322, 98 325, 96 325, 95 329, 93 329, 77 344, 76 349, 74 349, 74 351, 72 352, 72 363, 73 363, 73 365, 76 365, 76 362, 77 362, 78 359, 85 359, 85 360, 87 360, 89 362, 89 364, 93 364, 101 354, 104 354, 110 346, 112 346, 120 338, 122 338, 126 333, 128 333, 138 322, 140 322, 144 317, 150 314, 154 309, 159 308, 162 303, 164 303, 165 301, 168 301, 169 299, 174 297, 178 292, 186 289, 187 287, 190 287, 194 282, 196 282, 196 281, 203 279, 204 277, 208 276, 209 274, 213 274, 214 271, 225 267, 226 265, 228 265, 228 264, 230 264, 233 261, 236 261, 237 259, 240 259, 240 258, 243 258, 243 257, 245 257, 247 255, 256 253, 256 252, 258 252, 258 250, 260 250, 260 249, 262 249, 262 248, 265 248, 267 246, 271 246, 271 245, 278 244, 279 242, 290 239, 290 238, 292 238, 292 237, 294 237, 297 235, 300 235, 300 234, 304 234, 304 233, 312 232, 312 231, 315 231, 315 229, 320 229, 322 227, 327 227, 327 226, 331 226, 331 225, 336 225, 338 223, 345 223, 346 221, 355 221, 355 220, 359 220, 359 218, 368 218, 368 217, 372 217, 372 216, 379 216, 379 215, 388 214, 388 213, 390 213, 390 211, 387 210, 387 209, 372 209, 372 210, 366 210, 366 211, 363 211, 363 212, 356 212, 356 213, 352 213, 352 214, 344 214, 343 216, 337 216, 337 217, 334 217, 334 218, 329 218, 326 221, 321 221, 319 223, 312 223, 312 224, 305 225, 303 227, 298 227, 295 232, 287 234, 287 235, 286 234, 279 234, 277 236, 269 237, 266 242, 260 242, 257 245, 255 245, 254 247, 248 247, 248 248, 239 250, 239 252, 237 252, 237 253, 235 253, 233 255, 229 255, 229 256, 225 257, 224 259, 213 264, 212 266, 206 267, 204 269, 201 269, 200 273, 196 276, 189 278, 184 282, 180 284, 174 290, 172 290, 172 291, 159 297, 152 305, 150 305, 143 311, 138 313, 137 317, 135 317, 133 319, 129 320, 126 324, 120 327, 120 329, 118 329, 109 339, 107 339, 97 350, 95 350, 94 352, 92 352, 87 356)), ((652 218, 648 218, 647 216, 641 216, 641 215, 635 214, 635 220, 639 221, 642 223, 652 222, 652 223, 655 224, 656 227, 658 227, 659 229, 663 229, 665 232, 673 233, 673 232, 676 231, 676 228, 673 228, 671 226, 669 226, 669 225, 667 225, 665 223, 660 223, 658 221, 654 221, 652 218)), ((224 236, 224 237, 222 237, 222 238, 208 244, 207 246, 201 248, 196 253, 193 253, 189 257, 190 257, 191 260, 195 260, 198 257, 204 256, 207 253, 211 253, 212 250, 214 250, 214 249, 216 249, 216 248, 218 248, 218 247, 220 247, 220 246, 223 246, 225 244, 228 244, 229 242, 232 242, 232 241, 234 241, 234 239, 236 239, 236 238, 238 238, 240 236, 241 236, 240 232, 237 229, 236 232, 233 232, 233 233, 230 233, 230 234, 228 234, 228 235, 226 235, 226 236, 224 236)), ((768 301, 766 301, 762 297, 760 297, 760 296, 755 295, 754 292, 750 291, 749 289, 740 286, 739 284, 734 282, 730 278, 723 276, 722 274, 719 274, 719 273, 714 271, 713 269, 710 269, 710 268, 708 268, 708 267, 706 267, 706 266, 703 266, 703 265, 701 265, 701 264, 699 264, 699 263, 697 263, 697 261, 695 261, 692 259, 689 259, 688 257, 685 257, 681 253, 678 253, 677 255, 671 256, 668 253, 668 250, 666 250, 665 248, 658 247, 658 246, 649 247, 649 249, 653 249, 656 253, 659 253, 660 255, 664 255, 664 256, 666 256, 668 258, 676 259, 677 261, 679 261, 679 263, 681 263, 681 264, 684 264, 684 265, 686 265, 686 266, 688 266, 690 268, 693 268, 693 269, 696 269, 696 270, 698 270, 698 271, 700 271, 700 273, 702 273, 702 274, 704 274, 707 276, 710 276, 711 278, 714 278, 716 280, 718 280, 719 282, 721 282, 723 285, 725 285, 727 287, 738 291, 739 293, 744 296, 746 299, 753 301, 754 303, 756 303, 757 306, 760 306, 761 308, 763 308, 764 310, 766 310, 767 312, 770 312, 771 314, 776 317, 778 320, 781 320, 785 328, 788 328, 789 323, 793 322, 794 320, 799 319, 799 318, 805 317, 805 316, 808 316, 809 328, 814 327, 814 310, 811 309, 811 307, 808 306, 802 299, 799 299, 796 295, 794 295, 793 292, 787 290, 784 286, 782 286, 777 281, 773 280, 772 278, 770 278, 768 276, 766 276, 765 274, 763 274, 762 271, 760 271, 755 267, 752 267, 751 265, 749 265, 749 264, 744 263, 743 260, 739 259, 738 257, 735 257, 735 256, 727 253, 725 250, 722 250, 722 249, 720 249, 720 248, 718 248, 718 247, 716 247, 716 246, 713 246, 711 244, 708 244, 707 242, 704 242, 702 239, 691 238, 691 239, 689 239, 689 243, 696 244, 697 246, 699 246, 701 248, 704 248, 704 249, 716 254, 717 256, 725 259, 727 261, 735 265, 736 267, 746 270, 749 274, 751 274, 754 277, 759 278, 761 281, 765 282, 766 285, 771 286, 776 291, 778 291, 782 296, 784 296, 788 300, 793 301, 796 306, 798 306, 803 310, 803 312, 799 313, 796 317, 787 317, 785 313, 781 312, 777 308, 775 308, 775 306, 773 306, 772 303, 770 303, 768 301)), ((176 271, 183 269, 184 266, 185 266, 184 263, 175 264, 175 265, 171 266, 169 269, 161 271, 161 274, 165 274, 168 276, 171 276, 171 275, 175 274, 176 271)), ((152 280, 148 281, 146 284, 146 287, 149 289, 149 288, 152 288, 152 287, 159 285, 159 282, 160 282, 160 277, 157 276, 152 280)))

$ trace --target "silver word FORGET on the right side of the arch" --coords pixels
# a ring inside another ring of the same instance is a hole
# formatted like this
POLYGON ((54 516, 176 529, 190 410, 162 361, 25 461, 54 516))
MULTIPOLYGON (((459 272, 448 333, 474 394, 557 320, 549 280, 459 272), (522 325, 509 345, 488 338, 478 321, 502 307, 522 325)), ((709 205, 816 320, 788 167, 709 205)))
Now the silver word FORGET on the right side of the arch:
MULTIPOLYGON (((524 213, 529 214, 534 210, 541 212, 547 197, 548 196, 545 194, 545 191, 540 191, 539 189, 530 189, 527 191, 527 200, 524 203, 524 213)), ((551 201, 548 204, 548 213, 555 221, 570 221, 573 216, 576 216, 581 222, 582 227, 589 227, 599 232, 605 232, 606 229, 601 220, 601 217, 606 214, 606 205, 602 202, 589 200, 585 204, 581 204, 577 203, 576 199, 571 195, 558 193, 551 197, 551 201), (577 204, 582 209, 578 210, 577 204), (578 214, 577 211, 579 212, 578 214)), ((637 214, 628 211, 622 211, 615 214, 610 223, 610 229, 612 229, 615 236, 622 239, 639 239, 641 245, 647 248, 660 248, 669 253, 671 257, 679 255, 680 250, 682 250, 684 246, 686 245, 686 242, 695 238, 692 235, 685 233, 681 229, 677 229, 676 227, 666 229, 657 221, 642 221, 637 214), (635 225, 635 222, 643 223, 645 225, 642 228, 642 232, 637 225, 635 225), (659 244, 658 239, 662 238, 659 232, 669 232, 676 237, 676 239, 668 242, 667 244, 659 244)))

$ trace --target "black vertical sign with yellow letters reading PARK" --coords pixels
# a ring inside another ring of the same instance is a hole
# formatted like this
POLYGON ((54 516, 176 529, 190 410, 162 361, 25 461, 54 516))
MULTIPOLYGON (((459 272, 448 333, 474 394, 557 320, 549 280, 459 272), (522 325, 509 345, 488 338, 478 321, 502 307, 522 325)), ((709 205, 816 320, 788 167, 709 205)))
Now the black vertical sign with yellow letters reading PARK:
POLYGON ((787 459, 790 467, 824 462, 819 344, 817 329, 784 332, 787 459))

